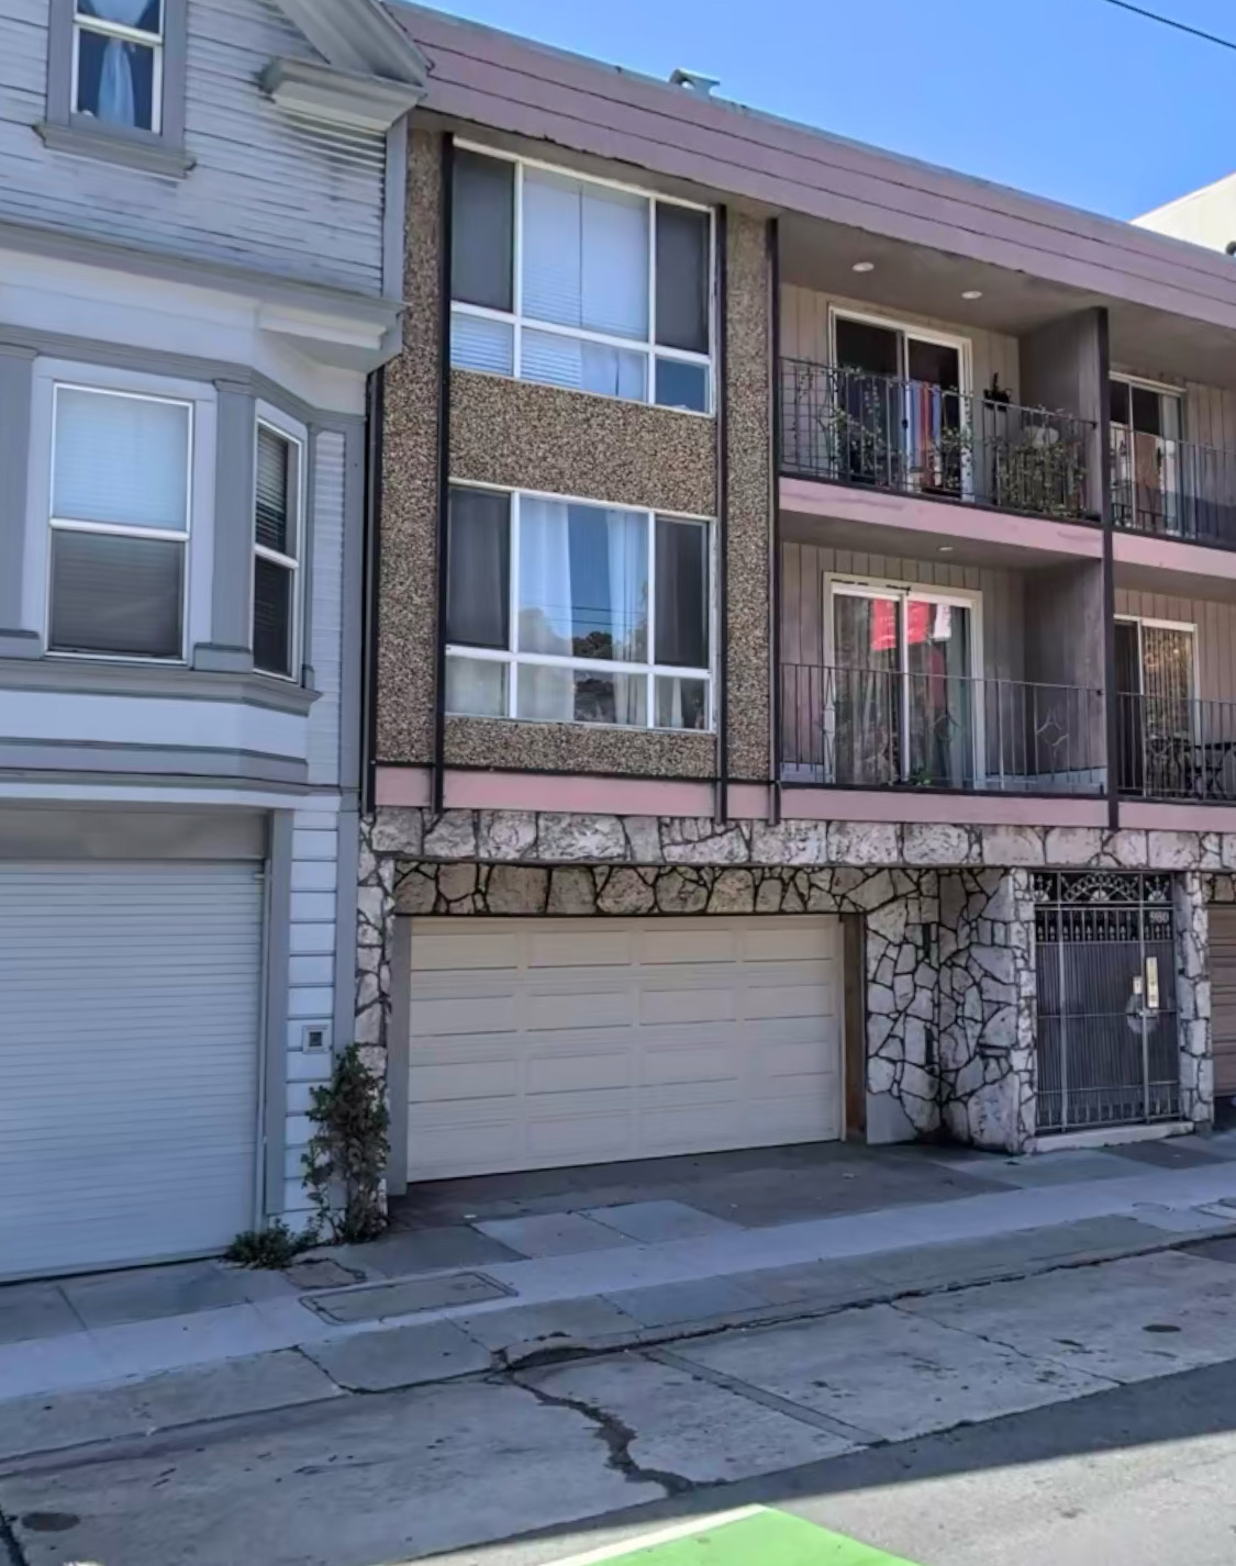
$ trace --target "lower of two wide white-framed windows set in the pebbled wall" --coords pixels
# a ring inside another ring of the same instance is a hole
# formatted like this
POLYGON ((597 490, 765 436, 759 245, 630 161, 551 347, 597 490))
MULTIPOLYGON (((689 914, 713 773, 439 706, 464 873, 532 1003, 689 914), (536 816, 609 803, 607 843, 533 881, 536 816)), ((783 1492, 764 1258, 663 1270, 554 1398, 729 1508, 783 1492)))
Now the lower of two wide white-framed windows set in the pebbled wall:
POLYGON ((714 529, 451 487, 446 711, 710 730, 714 529))

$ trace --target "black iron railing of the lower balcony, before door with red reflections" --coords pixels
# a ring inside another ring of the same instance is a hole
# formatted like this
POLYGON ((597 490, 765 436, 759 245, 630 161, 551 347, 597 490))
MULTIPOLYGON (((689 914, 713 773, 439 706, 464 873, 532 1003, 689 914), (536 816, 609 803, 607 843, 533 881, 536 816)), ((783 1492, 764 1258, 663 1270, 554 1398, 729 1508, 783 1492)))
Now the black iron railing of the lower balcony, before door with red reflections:
POLYGON ((943 672, 780 666, 782 781, 1097 796, 1103 692, 943 672))

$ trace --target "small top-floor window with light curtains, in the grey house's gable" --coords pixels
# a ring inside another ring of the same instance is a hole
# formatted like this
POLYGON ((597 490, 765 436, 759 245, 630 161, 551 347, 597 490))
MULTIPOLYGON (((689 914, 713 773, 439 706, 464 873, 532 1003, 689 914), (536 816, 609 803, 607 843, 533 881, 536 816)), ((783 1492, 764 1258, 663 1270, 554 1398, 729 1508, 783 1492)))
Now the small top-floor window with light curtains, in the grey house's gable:
POLYGON ((74 0, 70 111, 163 132, 164 0, 74 0))

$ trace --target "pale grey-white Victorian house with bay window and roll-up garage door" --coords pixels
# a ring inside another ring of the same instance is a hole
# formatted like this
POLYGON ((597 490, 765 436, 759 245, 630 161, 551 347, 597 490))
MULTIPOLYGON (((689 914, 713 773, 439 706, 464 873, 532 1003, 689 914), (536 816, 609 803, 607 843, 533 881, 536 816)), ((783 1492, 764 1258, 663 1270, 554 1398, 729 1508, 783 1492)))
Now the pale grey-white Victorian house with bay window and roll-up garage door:
POLYGON ((3 1278, 305 1206, 421 83, 373 0, 0 0, 3 1278))

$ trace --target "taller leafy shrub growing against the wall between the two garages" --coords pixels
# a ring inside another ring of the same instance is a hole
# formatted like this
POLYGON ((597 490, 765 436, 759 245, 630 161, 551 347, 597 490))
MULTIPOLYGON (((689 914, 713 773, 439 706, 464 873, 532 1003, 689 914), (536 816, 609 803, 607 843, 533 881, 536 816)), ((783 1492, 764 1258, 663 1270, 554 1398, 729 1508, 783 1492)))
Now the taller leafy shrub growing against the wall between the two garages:
POLYGON ((315 1126, 304 1156, 313 1228, 345 1245, 371 1240, 387 1225, 384 1181, 390 1113, 382 1084, 349 1045, 326 1087, 312 1092, 315 1126))

